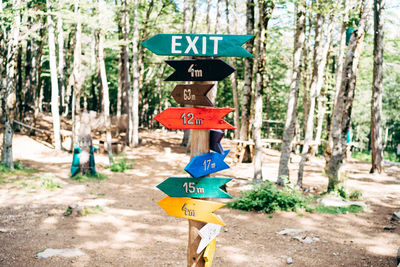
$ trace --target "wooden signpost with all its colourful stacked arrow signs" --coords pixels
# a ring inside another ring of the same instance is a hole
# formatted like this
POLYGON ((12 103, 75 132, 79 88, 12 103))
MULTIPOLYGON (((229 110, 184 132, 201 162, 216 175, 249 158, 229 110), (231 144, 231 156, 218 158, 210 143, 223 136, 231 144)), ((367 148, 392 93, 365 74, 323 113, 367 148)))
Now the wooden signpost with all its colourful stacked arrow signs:
MULTIPOLYGON (((157 34, 142 45, 157 55, 253 57, 242 45, 253 35, 157 34)), ((168 196, 158 204, 171 216, 189 219, 187 266, 211 266, 216 236, 225 223, 213 212, 224 204, 198 198, 231 198, 220 187, 232 178, 205 177, 229 168, 224 162, 229 150, 220 144, 224 133, 212 129, 235 129, 222 118, 231 108, 212 107, 207 92, 212 81, 220 81, 235 69, 220 59, 166 61, 175 69, 166 81, 193 81, 177 85, 172 96, 179 104, 193 108, 168 108, 155 120, 168 129, 193 129, 191 161, 185 170, 193 177, 169 177, 157 187, 168 196), (211 129, 211 131, 209 130, 211 129), (215 151, 209 153, 210 148, 215 151), (192 197, 192 198, 189 198, 192 197), (206 224, 208 223, 208 224, 206 224)))

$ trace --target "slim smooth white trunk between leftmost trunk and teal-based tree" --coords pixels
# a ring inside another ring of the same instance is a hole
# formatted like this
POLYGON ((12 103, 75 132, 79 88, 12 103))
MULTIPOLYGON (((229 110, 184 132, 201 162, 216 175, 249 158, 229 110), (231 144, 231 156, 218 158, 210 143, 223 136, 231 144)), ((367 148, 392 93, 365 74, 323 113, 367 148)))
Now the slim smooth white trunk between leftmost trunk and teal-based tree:
POLYGON ((53 118, 54 147, 61 150, 60 135, 60 114, 58 109, 58 80, 57 80, 57 62, 56 62, 56 44, 54 40, 54 22, 51 17, 51 3, 46 1, 47 6, 47 24, 49 31, 49 59, 50 59, 50 77, 51 77, 51 115, 53 118))

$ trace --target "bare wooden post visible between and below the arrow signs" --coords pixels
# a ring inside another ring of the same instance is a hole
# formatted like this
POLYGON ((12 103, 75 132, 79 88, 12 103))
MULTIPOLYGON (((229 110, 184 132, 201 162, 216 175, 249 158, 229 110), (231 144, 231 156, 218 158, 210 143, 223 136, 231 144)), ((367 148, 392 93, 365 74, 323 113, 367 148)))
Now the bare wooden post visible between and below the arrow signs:
MULTIPOLYGON (((193 82, 194 84, 209 84, 211 82, 193 82)), ((212 91, 216 90, 216 87, 208 92, 208 96, 212 95, 212 91)), ((210 99, 213 104, 215 99, 210 99)), ((195 106, 199 107, 199 106, 195 106)), ((210 152, 210 130, 192 130, 192 138, 190 145, 190 158, 201 154, 210 152)), ((188 249, 187 249, 187 266, 188 267, 203 267, 205 261, 203 258, 204 250, 197 254, 196 250, 201 241, 199 230, 205 225, 204 222, 189 220, 189 238, 188 238, 188 249)))

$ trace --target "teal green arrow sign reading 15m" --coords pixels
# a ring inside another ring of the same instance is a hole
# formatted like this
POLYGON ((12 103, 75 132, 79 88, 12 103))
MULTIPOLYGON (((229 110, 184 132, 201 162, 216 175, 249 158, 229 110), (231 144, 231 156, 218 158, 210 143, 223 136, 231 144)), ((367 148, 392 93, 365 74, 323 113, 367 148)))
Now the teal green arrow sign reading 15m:
POLYGON ((170 197, 232 198, 220 187, 232 178, 219 177, 169 177, 157 188, 170 197))

